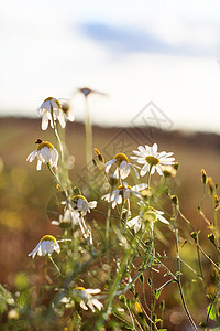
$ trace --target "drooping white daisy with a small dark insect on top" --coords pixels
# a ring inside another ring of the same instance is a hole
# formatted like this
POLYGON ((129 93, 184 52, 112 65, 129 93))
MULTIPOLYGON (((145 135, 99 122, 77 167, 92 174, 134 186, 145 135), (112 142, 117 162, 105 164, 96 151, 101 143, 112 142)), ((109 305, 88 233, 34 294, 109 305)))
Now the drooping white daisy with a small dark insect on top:
POLYGON ((26 161, 33 162, 37 158, 36 170, 41 170, 42 163, 50 163, 51 167, 57 168, 58 152, 54 146, 48 141, 42 141, 37 139, 35 143, 38 143, 37 149, 30 153, 26 161))

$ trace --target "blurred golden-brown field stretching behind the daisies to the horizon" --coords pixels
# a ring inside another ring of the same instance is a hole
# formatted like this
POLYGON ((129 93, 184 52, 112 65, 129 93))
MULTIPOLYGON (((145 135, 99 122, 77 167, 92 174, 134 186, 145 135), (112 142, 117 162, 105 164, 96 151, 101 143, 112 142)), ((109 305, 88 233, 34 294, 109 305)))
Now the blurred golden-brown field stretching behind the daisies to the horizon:
MULTIPOLYGON (((51 129, 41 130, 40 119, 26 118, 1 118, 0 121, 0 282, 9 290, 18 287, 19 277, 22 273, 31 273, 31 280, 35 285, 42 280, 44 261, 36 258, 31 264, 28 254, 35 247, 38 239, 45 234, 59 235, 61 229, 51 225, 52 220, 58 218, 56 207, 57 189, 53 178, 46 167, 36 171, 36 163, 26 162, 26 157, 35 149, 34 142, 37 138, 55 143, 55 137, 51 129)), ((101 179, 96 172, 92 162, 86 164, 85 158, 85 128, 79 122, 68 122, 66 130, 66 142, 69 151, 69 174, 73 185, 82 189, 88 200, 97 199, 98 207, 89 217, 98 222, 106 222, 98 212, 105 211, 106 203, 100 201, 105 190, 99 186, 101 179), (90 183, 88 186, 88 182, 90 183), (100 190, 99 190, 100 189, 100 190)), ((121 151, 129 154, 139 145, 158 143, 158 150, 173 151, 179 162, 179 171, 176 181, 170 182, 173 192, 178 195, 180 210, 184 215, 197 228, 198 206, 201 203, 202 184, 200 171, 204 168, 208 175, 219 183, 220 164, 220 136, 215 134, 187 134, 180 131, 162 131, 156 128, 101 128, 94 127, 94 147, 103 153, 106 161, 121 151)), ((155 184, 160 178, 155 175, 155 184)), ((143 179, 141 180, 143 181, 143 179)), ((153 182, 154 184, 154 182, 153 182)), ((204 213, 209 221, 213 221, 211 202, 206 193, 204 213)), ((170 203, 164 196, 164 205, 158 206, 166 212, 166 217, 170 216, 170 203)), ((200 244, 206 252, 212 255, 212 246, 207 235, 209 229, 202 220, 200 244)), ((198 271, 196 247, 190 237, 190 227, 182 218, 178 220, 180 234, 180 256, 184 260, 198 271), (187 242, 186 242, 187 241, 187 242)), ((176 256, 174 236, 163 224, 158 224, 158 229, 164 233, 165 239, 161 241, 158 234, 157 252, 167 256, 176 256)), ((215 257, 213 257, 215 258, 215 257)), ((201 257, 207 266, 205 273, 208 279, 210 292, 215 285, 211 278, 211 266, 201 257)), ((167 261, 168 263, 168 261, 167 261)), ((172 263, 170 268, 172 268, 172 263)), ((175 264, 174 265, 174 270, 175 264)), ((206 316, 208 301, 204 300, 201 282, 187 267, 183 267, 183 281, 186 290, 189 309, 194 316, 206 316), (195 285, 197 282, 197 285, 195 285), (202 303, 201 303, 202 298, 202 303)), ((158 275, 158 281, 162 275, 158 275)), ((173 313, 173 308, 179 308, 173 316, 173 324, 182 323, 182 309, 178 292, 174 292, 174 285, 163 291, 162 298, 166 300, 167 314, 173 313), (178 302, 178 303, 177 303, 178 302), (179 314, 178 314, 179 313, 179 314)), ((170 320, 170 319, 169 319, 170 320)), ((184 330, 184 329, 183 329, 184 330)))

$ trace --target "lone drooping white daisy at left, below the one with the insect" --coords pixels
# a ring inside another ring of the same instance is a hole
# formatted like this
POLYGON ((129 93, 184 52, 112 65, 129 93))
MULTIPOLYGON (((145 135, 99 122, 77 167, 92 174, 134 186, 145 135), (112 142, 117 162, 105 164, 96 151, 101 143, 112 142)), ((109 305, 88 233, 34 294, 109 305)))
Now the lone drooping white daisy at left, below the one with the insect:
POLYGON ((46 254, 51 256, 54 250, 56 250, 58 254, 61 253, 58 242, 54 236, 45 235, 43 238, 41 238, 36 247, 29 254, 29 256, 32 256, 32 258, 34 258, 36 254, 38 256, 45 256, 46 254))

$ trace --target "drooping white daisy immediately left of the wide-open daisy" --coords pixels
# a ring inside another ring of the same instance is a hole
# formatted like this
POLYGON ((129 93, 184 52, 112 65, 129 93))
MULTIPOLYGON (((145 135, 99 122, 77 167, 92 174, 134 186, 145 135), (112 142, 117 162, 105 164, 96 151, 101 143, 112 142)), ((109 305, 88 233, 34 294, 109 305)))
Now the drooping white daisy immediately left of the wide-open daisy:
POLYGON ((113 178, 117 178, 117 179, 121 178, 122 180, 125 179, 130 174, 131 167, 134 170, 136 177, 139 178, 139 173, 135 169, 135 166, 133 166, 129 162, 129 159, 124 153, 116 154, 112 160, 110 160, 106 163, 106 172, 107 173, 109 173, 110 168, 114 163, 117 166, 117 169, 116 169, 114 173, 112 174, 113 178))

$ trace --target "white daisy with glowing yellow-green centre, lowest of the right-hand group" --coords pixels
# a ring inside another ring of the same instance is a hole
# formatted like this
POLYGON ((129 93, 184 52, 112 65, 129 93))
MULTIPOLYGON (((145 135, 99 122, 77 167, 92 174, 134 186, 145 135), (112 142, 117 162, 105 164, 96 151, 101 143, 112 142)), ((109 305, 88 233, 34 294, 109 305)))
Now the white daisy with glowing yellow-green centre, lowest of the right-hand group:
MULTIPOLYGON (((139 205, 143 205, 143 202, 141 201, 139 205)), ((164 212, 157 211, 153 209, 152 206, 148 207, 146 212, 141 211, 138 216, 130 220, 127 223, 127 226, 130 228, 133 228, 135 233, 138 233, 142 225, 144 225, 145 222, 156 222, 161 221, 164 224, 169 224, 169 222, 163 216, 164 212)))

